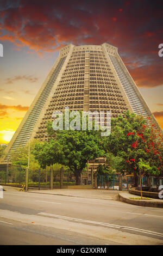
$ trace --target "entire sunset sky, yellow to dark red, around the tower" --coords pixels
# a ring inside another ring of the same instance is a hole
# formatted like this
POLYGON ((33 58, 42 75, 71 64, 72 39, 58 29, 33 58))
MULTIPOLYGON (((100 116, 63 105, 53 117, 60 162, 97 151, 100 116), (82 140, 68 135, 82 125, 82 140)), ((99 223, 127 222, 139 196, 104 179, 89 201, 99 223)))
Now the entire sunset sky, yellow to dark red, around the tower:
POLYGON ((163 128, 163 1, 0 1, 0 143, 8 143, 67 45, 118 47, 163 128))

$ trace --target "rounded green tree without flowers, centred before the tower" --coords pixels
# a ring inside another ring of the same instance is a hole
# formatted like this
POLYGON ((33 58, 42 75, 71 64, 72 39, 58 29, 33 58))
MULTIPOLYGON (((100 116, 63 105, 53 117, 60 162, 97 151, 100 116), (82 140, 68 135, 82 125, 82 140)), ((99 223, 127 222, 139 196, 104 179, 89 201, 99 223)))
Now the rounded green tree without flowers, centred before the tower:
MULTIPOLYGON (((82 112, 80 112, 80 117, 82 117, 82 112)), ((81 127, 82 123, 80 123, 81 127)), ((100 131, 93 129, 92 131, 58 130, 54 132, 52 123, 48 122, 47 132, 51 135, 51 139, 48 143, 35 144, 33 150, 35 158, 42 168, 54 163, 67 166, 76 178, 76 185, 79 184, 80 174, 86 169, 87 162, 104 155, 100 131), (52 136, 53 133, 54 136, 52 136)))

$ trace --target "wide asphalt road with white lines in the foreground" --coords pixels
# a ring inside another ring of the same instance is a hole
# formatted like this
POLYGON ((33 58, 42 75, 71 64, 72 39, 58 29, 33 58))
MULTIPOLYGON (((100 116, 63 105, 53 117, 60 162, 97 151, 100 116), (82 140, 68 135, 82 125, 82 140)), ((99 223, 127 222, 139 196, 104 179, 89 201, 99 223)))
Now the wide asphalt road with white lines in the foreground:
POLYGON ((117 200, 4 191, 1 245, 163 245, 163 211, 117 200))

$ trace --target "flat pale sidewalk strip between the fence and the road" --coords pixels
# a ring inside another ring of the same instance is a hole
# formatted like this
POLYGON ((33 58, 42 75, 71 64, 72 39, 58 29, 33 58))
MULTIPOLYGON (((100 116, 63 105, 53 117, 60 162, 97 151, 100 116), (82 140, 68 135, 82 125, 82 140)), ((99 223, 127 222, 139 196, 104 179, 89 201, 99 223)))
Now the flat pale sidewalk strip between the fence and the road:
POLYGON ((30 190, 28 193, 54 194, 68 197, 84 197, 105 200, 118 200, 117 190, 72 190, 72 189, 54 189, 54 190, 30 190))

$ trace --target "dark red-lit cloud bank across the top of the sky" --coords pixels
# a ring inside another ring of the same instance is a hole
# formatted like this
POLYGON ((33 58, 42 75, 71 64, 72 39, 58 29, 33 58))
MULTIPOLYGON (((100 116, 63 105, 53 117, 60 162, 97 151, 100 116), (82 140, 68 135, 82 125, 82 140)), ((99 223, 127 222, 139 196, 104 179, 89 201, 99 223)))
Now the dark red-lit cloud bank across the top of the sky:
MULTIPOLYGON (((42 54, 72 43, 118 47, 139 87, 160 86, 162 0, 2 1, 0 40, 42 54), (137 60, 137 63, 135 63, 137 60)), ((11 82, 9 80, 8 82, 11 82)))

